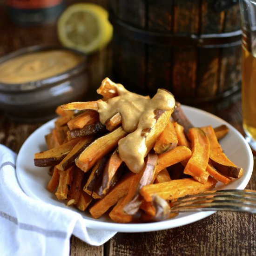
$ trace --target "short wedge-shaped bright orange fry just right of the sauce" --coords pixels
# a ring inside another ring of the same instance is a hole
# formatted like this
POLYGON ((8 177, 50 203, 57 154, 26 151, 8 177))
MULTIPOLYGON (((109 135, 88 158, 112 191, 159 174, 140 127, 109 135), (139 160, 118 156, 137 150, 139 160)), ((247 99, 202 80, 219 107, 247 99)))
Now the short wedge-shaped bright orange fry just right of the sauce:
POLYGON ((175 132, 175 127, 173 122, 169 120, 166 127, 155 142, 155 153, 161 154, 167 150, 172 150, 177 146, 177 144, 178 138, 175 132))

